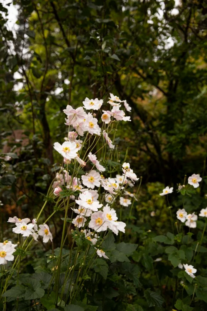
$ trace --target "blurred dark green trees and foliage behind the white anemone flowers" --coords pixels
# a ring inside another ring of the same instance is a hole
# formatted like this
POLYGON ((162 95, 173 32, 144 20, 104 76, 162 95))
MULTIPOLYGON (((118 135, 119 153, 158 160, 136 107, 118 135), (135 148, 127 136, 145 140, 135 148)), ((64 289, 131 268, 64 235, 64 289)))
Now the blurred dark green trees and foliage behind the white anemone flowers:
MULTIPOLYGON (((62 110, 85 97, 106 103, 112 92, 132 107, 132 122, 118 129, 116 143, 120 160, 127 149, 127 161, 143 176, 142 220, 151 211, 162 214, 164 185, 206 174, 205 0, 6 4, 0 4, 1 217, 32 217, 40 209, 61 163, 53 143, 66 136, 62 110), (7 25, 13 5, 15 31, 7 25)), ((45 216, 51 211, 52 202, 45 216)))

